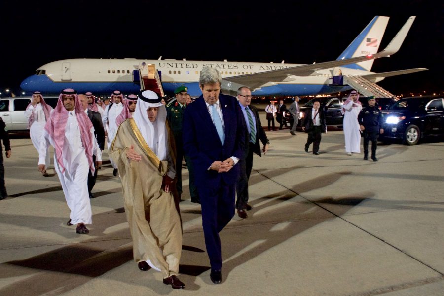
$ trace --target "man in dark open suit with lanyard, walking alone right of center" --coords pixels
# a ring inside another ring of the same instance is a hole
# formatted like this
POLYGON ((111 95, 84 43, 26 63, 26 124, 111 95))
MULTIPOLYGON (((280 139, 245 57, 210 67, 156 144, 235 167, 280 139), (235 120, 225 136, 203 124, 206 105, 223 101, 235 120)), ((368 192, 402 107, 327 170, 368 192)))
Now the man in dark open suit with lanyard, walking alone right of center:
POLYGON ((307 143, 305 143, 305 152, 308 153, 308 147, 313 143, 313 154, 319 155, 319 144, 321 143, 322 133, 327 131, 324 111, 319 106, 319 101, 313 102, 313 108, 305 111, 302 130, 308 133, 307 143))

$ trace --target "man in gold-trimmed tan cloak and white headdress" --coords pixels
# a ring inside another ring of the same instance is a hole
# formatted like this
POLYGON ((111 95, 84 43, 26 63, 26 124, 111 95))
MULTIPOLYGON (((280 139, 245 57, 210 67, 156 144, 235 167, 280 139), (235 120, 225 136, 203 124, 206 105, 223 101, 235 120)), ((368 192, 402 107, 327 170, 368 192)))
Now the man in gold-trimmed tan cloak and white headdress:
POLYGON ((184 289, 178 278, 182 228, 171 186, 174 139, 165 123, 167 112, 156 93, 143 90, 133 118, 120 124, 110 156, 122 182, 126 218, 133 238, 133 256, 140 270, 161 271, 163 283, 184 289))

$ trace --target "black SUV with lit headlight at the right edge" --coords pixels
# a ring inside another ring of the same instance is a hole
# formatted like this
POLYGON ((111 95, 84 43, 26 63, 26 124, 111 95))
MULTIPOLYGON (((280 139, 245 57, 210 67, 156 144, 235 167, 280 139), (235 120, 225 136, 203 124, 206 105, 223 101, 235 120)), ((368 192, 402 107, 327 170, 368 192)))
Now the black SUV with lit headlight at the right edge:
POLYGON ((444 97, 422 96, 400 99, 384 114, 384 133, 380 141, 401 139, 415 145, 427 135, 444 134, 444 97))

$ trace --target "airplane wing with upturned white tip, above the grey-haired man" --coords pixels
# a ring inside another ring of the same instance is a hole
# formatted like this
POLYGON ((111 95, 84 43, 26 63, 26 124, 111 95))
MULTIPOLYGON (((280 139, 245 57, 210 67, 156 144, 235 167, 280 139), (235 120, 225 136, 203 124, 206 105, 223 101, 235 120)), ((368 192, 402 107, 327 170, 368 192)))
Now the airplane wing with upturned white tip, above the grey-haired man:
POLYGON ((349 59, 341 59, 341 60, 334 60, 329 62, 322 62, 322 63, 313 63, 313 64, 307 64, 307 65, 301 65, 301 66, 295 66, 295 67, 289 67, 285 69, 278 69, 278 70, 271 70, 271 71, 265 71, 260 73, 254 73, 254 74, 246 74, 246 75, 240 75, 240 76, 233 76, 233 77, 226 77, 224 80, 232 83, 236 83, 239 85, 246 85, 250 88, 256 88, 259 87, 267 82, 273 81, 273 82, 285 82, 285 79, 290 76, 310 76, 314 72, 322 69, 328 69, 333 68, 337 66, 342 65, 348 65, 348 64, 354 64, 358 62, 363 62, 370 59, 378 59, 382 57, 388 57, 394 53, 396 53, 402 43, 404 42, 404 39, 407 36, 408 30, 410 30, 411 25, 413 24, 413 21, 415 20, 416 16, 411 16, 408 18, 407 22, 404 24, 404 26, 401 28, 401 30, 396 34, 395 37, 393 37, 392 41, 387 45, 387 47, 382 50, 381 52, 378 52, 374 55, 370 56, 360 56, 360 57, 354 57, 349 59))

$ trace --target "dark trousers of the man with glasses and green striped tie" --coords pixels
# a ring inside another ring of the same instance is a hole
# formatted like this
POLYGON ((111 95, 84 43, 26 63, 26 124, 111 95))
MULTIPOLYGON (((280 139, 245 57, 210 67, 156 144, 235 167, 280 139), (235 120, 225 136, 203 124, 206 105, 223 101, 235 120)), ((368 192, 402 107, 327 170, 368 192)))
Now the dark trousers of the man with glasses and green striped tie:
POLYGON ((239 210, 245 210, 248 203, 248 180, 250 179, 251 169, 253 168, 254 145, 254 143, 250 142, 246 158, 240 159, 237 163, 240 167, 240 174, 236 183, 236 209, 239 210))

